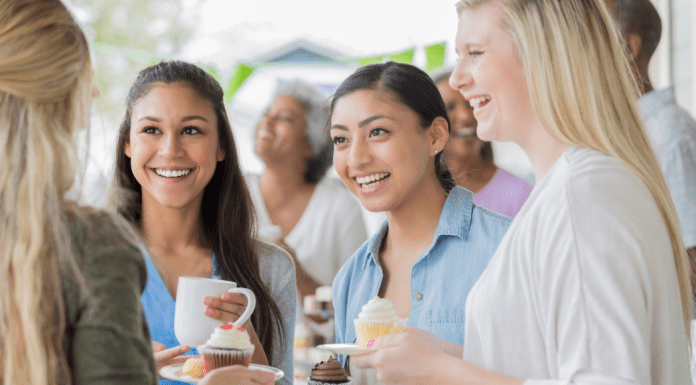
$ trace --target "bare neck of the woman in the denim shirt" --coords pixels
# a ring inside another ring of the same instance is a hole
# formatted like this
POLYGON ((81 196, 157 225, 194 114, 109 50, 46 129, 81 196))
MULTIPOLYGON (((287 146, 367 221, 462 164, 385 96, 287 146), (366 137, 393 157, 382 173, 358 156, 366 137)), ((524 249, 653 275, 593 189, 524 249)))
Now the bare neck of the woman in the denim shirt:
POLYGON ((437 180, 430 182, 406 205, 386 213, 389 222, 387 247, 409 249, 432 242, 447 194, 437 180))

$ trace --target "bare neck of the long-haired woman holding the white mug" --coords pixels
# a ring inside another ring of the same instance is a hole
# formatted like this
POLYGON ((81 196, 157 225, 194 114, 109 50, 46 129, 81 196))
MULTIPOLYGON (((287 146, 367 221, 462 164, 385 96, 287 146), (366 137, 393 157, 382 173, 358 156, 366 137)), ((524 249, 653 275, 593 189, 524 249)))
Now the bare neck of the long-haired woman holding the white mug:
POLYGON ((148 247, 161 251, 200 247, 200 201, 190 206, 164 207, 143 196, 140 231, 148 247))

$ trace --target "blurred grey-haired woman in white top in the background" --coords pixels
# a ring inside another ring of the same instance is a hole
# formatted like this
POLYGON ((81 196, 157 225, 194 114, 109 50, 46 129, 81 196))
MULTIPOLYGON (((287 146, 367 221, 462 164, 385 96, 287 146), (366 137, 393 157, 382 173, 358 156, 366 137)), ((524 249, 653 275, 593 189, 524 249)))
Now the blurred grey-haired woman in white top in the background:
POLYGON ((271 240, 293 251, 300 300, 330 286, 367 239, 358 201, 340 180, 325 177, 333 150, 328 118, 328 96, 317 87, 280 83, 256 126, 255 151, 265 169, 247 175, 261 235, 276 226, 271 240))

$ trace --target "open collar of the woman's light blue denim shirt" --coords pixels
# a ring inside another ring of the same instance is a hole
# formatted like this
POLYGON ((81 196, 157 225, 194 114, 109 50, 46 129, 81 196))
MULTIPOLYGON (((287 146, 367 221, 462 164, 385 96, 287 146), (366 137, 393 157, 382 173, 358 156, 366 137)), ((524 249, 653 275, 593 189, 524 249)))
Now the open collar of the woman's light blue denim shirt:
MULTIPOLYGON (((440 221, 437 224, 432 245, 437 243, 437 240, 442 236, 455 236, 465 239, 471 225, 473 206, 474 194, 463 187, 455 186, 450 191, 445 205, 442 207, 440 221)), ((374 263, 377 266, 380 265, 379 250, 382 248, 382 242, 387 235, 387 230, 389 230, 389 222, 384 221, 379 230, 368 240, 367 250, 369 257, 367 261, 371 261, 368 263, 374 263)), ((423 253, 423 256, 428 254, 432 245, 423 253)), ((421 258, 423 258, 423 256, 421 256, 421 258)), ((421 258, 419 258, 419 261, 421 258)))

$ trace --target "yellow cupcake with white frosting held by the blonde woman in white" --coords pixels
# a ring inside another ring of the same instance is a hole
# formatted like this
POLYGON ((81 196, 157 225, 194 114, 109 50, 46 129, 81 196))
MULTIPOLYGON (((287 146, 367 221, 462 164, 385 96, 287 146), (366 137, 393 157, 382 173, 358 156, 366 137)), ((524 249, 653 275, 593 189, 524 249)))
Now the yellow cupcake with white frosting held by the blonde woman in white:
POLYGON ((390 300, 375 297, 363 305, 353 324, 358 347, 365 349, 371 347, 379 336, 401 333, 405 322, 396 315, 390 300))

